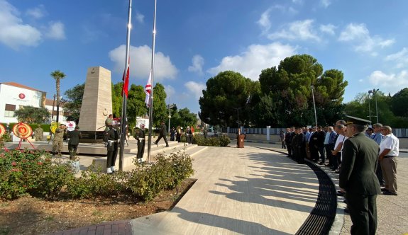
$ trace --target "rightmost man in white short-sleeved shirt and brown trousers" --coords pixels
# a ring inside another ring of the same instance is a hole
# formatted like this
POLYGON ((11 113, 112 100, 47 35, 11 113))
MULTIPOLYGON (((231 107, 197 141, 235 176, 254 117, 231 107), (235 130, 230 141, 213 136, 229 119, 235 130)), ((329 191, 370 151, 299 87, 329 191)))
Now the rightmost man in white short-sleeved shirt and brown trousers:
POLYGON ((381 127, 384 139, 380 144, 380 155, 382 176, 385 180, 384 195, 397 195, 397 156, 399 154, 399 139, 392 134, 390 126, 381 127))

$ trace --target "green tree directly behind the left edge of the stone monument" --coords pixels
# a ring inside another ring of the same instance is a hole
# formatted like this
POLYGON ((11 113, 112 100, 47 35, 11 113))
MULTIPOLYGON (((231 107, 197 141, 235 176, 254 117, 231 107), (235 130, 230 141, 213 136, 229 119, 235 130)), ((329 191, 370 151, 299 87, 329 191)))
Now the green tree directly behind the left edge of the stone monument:
POLYGON ((85 84, 77 84, 77 86, 65 91, 65 99, 63 99, 61 102, 64 103, 64 110, 70 113, 67 120, 75 121, 77 123, 79 122, 84 89, 85 84))

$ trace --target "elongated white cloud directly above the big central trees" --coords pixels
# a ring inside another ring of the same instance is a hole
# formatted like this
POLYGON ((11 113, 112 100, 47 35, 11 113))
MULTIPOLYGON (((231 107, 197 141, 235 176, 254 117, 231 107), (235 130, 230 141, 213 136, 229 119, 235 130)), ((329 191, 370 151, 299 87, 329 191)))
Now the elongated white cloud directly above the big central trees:
POLYGON ((238 71, 243 76, 258 80, 260 72, 265 68, 277 66, 282 59, 296 53, 296 48, 274 42, 268 45, 250 45, 241 55, 224 57, 221 63, 208 70, 210 74, 220 71, 238 71))

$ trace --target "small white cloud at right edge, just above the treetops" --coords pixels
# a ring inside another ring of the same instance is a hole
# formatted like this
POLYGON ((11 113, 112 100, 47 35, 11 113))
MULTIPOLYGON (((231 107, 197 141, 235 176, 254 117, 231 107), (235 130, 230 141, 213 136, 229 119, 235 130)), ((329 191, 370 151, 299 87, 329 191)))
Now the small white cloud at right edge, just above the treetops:
POLYGON ((374 86, 380 86, 385 93, 396 93, 408 86, 408 71, 402 70, 399 74, 385 74, 382 71, 373 71, 368 79, 374 86))

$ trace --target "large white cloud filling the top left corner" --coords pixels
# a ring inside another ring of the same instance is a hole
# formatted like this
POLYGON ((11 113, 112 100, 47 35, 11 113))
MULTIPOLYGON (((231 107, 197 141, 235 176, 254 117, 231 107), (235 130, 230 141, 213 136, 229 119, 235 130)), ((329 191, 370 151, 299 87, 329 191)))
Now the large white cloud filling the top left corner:
POLYGON ((0 42, 18 50, 21 46, 35 47, 42 37, 37 28, 23 24, 18 10, 9 2, 0 0, 0 42))

